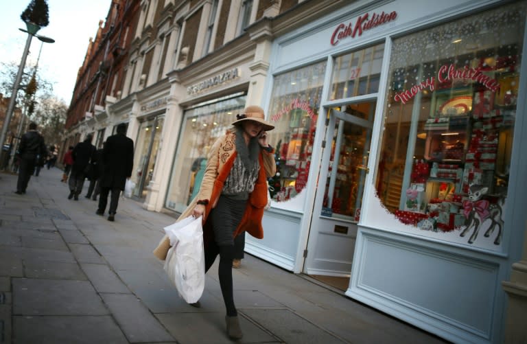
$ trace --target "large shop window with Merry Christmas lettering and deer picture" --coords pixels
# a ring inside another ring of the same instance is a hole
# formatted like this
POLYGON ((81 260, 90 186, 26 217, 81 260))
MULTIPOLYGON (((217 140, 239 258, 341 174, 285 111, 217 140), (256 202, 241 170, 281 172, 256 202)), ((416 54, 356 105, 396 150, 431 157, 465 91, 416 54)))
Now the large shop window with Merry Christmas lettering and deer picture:
POLYGON ((393 41, 376 191, 410 230, 500 244, 525 14, 513 3, 393 41))

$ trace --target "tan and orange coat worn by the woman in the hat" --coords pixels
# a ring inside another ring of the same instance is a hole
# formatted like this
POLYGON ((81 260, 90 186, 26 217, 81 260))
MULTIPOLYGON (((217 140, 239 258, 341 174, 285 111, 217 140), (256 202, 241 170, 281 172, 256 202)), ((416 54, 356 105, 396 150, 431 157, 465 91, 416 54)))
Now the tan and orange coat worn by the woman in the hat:
MULTIPOLYGON (((231 172, 236 155, 235 133, 228 132, 226 135, 215 141, 209 152, 207 168, 205 168, 200 192, 198 192, 196 198, 191 201, 187 209, 185 209, 183 214, 178 218, 178 220, 181 220, 191 216, 198 200, 209 201, 203 214, 203 241, 205 249, 207 249, 207 243, 210 242, 210 240, 213 240, 211 223, 210 221, 207 221, 207 219, 211 209, 213 209, 216 203, 218 203, 218 198, 220 198, 224 182, 231 172)), ((276 174, 277 165, 274 161, 273 152, 267 152, 266 150, 260 150, 259 163, 260 171, 255 183, 255 189, 249 195, 244 216, 242 217, 242 221, 239 223, 234 236, 237 236, 243 231, 247 231, 255 238, 264 238, 264 229, 261 227, 261 218, 264 216, 264 207, 267 205, 267 177, 276 174)), ((156 249, 154 249, 154 255, 160 260, 165 260, 169 248, 170 241, 165 235, 156 249)))

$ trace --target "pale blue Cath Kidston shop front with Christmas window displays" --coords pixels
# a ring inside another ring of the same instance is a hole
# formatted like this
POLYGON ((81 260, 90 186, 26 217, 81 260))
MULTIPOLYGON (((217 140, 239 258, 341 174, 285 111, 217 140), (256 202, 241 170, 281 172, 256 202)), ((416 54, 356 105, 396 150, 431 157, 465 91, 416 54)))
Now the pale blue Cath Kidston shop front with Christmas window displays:
POLYGON ((527 4, 421 5, 363 1, 274 41, 278 173, 246 251, 450 341, 499 343, 526 222, 527 4))

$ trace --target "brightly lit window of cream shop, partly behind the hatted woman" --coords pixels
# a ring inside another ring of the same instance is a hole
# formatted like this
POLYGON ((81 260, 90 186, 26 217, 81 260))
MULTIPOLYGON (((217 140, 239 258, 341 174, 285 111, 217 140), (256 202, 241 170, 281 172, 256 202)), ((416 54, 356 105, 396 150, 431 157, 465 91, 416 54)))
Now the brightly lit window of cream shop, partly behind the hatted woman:
POLYGON ((245 103, 246 96, 238 95, 185 111, 165 207, 183 212, 198 194, 209 149, 232 128, 231 123, 238 113, 243 113, 245 103))

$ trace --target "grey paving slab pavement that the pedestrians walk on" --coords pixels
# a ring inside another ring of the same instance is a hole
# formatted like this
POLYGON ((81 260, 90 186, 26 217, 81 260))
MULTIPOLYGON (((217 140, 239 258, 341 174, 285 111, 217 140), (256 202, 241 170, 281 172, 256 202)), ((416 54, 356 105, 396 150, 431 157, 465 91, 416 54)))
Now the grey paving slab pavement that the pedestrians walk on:
MULTIPOLYGON (((217 266, 192 308, 152 255, 173 216, 121 198, 109 222, 61 176, 40 170, 17 195, 0 172, 0 344, 231 343, 217 266)), ((239 343, 447 343, 251 255, 233 278, 239 343)))

